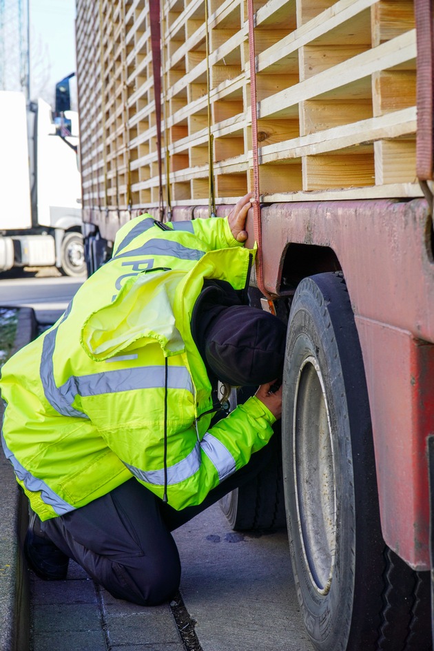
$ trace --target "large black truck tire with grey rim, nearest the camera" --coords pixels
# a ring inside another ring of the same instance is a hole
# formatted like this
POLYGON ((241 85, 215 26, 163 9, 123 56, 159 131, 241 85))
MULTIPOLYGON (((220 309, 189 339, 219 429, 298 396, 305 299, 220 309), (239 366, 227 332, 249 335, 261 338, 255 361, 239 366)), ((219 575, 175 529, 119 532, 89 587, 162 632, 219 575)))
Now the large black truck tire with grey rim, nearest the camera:
POLYGON ((318 651, 432 649, 429 572, 381 535, 369 400, 341 273, 300 282, 285 354, 282 462, 300 610, 318 651))

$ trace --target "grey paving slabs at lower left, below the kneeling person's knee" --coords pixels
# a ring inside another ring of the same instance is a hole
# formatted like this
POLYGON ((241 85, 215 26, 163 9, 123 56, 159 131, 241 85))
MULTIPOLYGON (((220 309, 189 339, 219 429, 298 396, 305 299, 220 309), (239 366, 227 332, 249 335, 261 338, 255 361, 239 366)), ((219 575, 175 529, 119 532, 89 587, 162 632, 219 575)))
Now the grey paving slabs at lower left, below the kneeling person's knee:
POLYGON ((168 605, 114 599, 70 561, 65 581, 32 574, 32 651, 184 651, 168 605))

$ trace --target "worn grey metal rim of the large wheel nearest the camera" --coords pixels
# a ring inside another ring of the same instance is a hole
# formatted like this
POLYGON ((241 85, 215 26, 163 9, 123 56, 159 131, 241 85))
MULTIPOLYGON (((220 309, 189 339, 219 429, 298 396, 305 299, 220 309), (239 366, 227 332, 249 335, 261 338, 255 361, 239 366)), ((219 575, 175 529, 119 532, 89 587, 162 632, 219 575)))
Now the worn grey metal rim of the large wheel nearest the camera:
POLYGON ((318 362, 298 373, 293 415, 293 473, 306 566, 321 595, 331 588, 336 552, 336 491, 327 397, 318 362))

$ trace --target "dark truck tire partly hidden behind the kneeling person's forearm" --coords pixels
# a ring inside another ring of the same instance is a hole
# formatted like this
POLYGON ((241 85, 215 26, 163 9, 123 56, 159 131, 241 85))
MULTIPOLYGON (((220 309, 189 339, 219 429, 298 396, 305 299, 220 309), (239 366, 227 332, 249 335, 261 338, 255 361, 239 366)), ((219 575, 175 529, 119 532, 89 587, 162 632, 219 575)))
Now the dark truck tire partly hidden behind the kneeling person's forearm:
MULTIPOLYGON (((274 436, 280 437, 279 425, 274 426, 274 436)), ((220 499, 220 508, 234 531, 285 528, 280 446, 254 479, 220 499)))

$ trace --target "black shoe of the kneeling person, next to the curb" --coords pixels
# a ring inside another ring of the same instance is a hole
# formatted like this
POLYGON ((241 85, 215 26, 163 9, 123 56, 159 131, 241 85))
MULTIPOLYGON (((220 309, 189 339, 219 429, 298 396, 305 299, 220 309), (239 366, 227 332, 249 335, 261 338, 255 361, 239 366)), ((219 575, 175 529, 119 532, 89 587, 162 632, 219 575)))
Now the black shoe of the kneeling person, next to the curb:
POLYGON ((30 515, 24 540, 24 553, 28 566, 40 579, 48 581, 66 579, 70 559, 43 532, 41 520, 36 513, 30 515))

